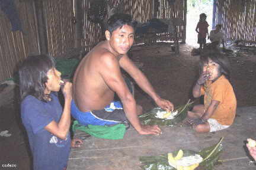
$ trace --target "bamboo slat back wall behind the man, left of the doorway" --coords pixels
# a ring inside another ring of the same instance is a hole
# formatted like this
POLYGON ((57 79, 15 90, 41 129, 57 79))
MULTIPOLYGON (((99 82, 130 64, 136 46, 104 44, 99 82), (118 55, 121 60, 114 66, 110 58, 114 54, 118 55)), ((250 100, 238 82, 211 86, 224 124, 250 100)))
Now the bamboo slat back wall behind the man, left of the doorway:
MULTIPOLYGON (((118 6, 120 3, 124 5, 124 13, 130 14, 133 18, 138 22, 146 22, 148 19, 154 18, 153 16, 153 0, 109 0, 110 4, 114 7, 118 6)), ((155 16, 155 18, 180 18, 185 23, 185 2, 186 0, 175 1, 174 9, 168 8, 167 0, 160 0, 159 9, 155 16), (174 12, 175 11, 175 12, 174 12)), ((94 24, 89 21, 87 16, 87 11, 90 7, 90 3, 88 0, 83 1, 83 9, 84 9, 84 32, 82 39, 82 46, 86 47, 87 50, 93 47, 95 43, 100 41, 101 38, 101 29, 99 24, 94 24)), ((178 31, 178 40, 181 42, 185 42, 185 24, 179 25, 177 27, 178 31)), ((169 32, 165 32, 162 34, 158 34, 158 40, 161 41, 174 41, 174 36, 169 34, 169 32)), ((136 40, 135 40, 136 43, 136 40)))

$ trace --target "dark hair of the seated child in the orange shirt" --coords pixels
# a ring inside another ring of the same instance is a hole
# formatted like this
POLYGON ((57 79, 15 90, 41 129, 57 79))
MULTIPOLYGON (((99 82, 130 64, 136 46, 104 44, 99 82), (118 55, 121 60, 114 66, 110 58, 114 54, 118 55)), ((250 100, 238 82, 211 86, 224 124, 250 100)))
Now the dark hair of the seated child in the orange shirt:
MULTIPOLYGON (((225 57, 222 53, 219 51, 213 50, 213 49, 206 49, 203 51, 203 53, 200 56, 200 69, 203 68, 204 63, 208 63, 209 59, 211 59, 213 62, 219 64, 219 71, 220 74, 223 74, 226 79, 230 78, 230 64, 227 57, 225 57)), ((201 73, 202 70, 200 70, 201 73)))

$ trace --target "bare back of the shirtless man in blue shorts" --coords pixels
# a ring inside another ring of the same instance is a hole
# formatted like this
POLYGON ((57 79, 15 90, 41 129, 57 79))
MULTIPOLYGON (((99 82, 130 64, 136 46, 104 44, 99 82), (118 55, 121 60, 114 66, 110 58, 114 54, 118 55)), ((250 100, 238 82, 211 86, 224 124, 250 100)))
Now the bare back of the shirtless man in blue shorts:
POLYGON ((73 99, 79 110, 88 112, 103 109, 114 99, 114 91, 111 90, 100 71, 104 69, 100 57, 109 53, 107 42, 100 42, 81 61, 73 78, 73 99))

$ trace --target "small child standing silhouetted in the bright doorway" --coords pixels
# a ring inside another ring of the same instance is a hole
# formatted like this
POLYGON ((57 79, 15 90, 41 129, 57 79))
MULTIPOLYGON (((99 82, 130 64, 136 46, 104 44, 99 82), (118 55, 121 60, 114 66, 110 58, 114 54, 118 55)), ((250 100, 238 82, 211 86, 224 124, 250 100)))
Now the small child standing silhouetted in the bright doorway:
POLYGON ((206 35, 208 36, 209 39, 209 33, 208 33, 208 27, 209 24, 206 21, 206 14, 202 13, 199 15, 199 22, 197 23, 196 27, 196 32, 198 33, 197 35, 197 43, 200 45, 199 50, 201 50, 205 47, 206 45, 206 35))

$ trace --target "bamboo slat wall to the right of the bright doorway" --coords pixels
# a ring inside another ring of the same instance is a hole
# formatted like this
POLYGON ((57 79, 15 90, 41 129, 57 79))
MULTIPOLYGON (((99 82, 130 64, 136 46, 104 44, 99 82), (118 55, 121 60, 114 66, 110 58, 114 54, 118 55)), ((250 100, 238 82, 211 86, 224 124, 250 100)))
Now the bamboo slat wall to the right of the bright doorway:
POLYGON ((256 0, 217 0, 215 24, 223 24, 227 40, 256 47, 256 0))

